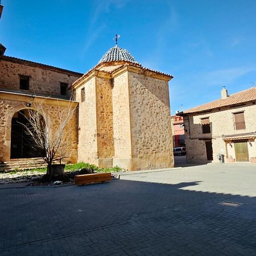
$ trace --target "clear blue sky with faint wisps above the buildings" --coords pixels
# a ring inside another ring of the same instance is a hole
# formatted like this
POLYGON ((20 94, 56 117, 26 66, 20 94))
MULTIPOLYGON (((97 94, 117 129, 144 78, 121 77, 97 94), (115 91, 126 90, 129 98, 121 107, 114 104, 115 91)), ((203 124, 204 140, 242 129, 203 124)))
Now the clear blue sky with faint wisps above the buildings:
POLYGON ((85 73, 114 46, 174 76, 172 114, 256 84, 255 0, 2 0, 5 55, 85 73))

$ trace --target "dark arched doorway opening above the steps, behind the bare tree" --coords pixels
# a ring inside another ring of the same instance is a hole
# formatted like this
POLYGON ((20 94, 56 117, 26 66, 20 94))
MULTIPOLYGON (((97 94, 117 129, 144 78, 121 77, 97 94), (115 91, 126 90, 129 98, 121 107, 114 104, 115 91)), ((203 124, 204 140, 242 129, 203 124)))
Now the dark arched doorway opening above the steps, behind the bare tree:
MULTIPOLYGON (((11 119, 11 159, 40 158, 45 155, 44 150, 35 144, 34 138, 27 132, 28 118, 35 110, 22 109, 16 112, 11 119)), ((40 121, 45 127, 44 118, 40 121)))

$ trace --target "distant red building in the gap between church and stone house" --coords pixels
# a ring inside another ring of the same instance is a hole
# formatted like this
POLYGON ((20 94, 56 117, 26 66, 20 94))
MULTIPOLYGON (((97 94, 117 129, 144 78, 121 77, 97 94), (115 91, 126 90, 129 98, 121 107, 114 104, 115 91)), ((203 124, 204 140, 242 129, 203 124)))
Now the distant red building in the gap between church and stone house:
POLYGON ((172 126, 174 134, 174 147, 185 146, 185 131, 183 117, 172 115, 172 126))

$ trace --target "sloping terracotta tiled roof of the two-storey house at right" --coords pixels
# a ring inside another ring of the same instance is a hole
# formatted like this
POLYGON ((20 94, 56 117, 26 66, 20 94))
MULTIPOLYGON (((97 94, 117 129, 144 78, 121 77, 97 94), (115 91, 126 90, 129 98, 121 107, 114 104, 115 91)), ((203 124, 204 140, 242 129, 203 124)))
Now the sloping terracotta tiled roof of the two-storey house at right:
POLYGON ((195 113, 195 112, 203 112, 205 110, 221 108, 224 106, 243 104, 249 101, 256 101, 256 87, 243 90, 242 92, 234 93, 230 95, 228 98, 224 98, 223 100, 212 101, 207 104, 197 106, 196 108, 185 110, 182 113, 188 114, 188 113, 195 113))

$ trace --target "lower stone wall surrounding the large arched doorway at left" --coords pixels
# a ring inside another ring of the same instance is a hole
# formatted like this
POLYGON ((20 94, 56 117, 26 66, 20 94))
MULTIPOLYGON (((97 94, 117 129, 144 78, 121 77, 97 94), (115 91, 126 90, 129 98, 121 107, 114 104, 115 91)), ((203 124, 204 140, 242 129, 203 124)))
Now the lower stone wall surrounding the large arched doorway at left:
MULTIPOLYGON (((11 119, 13 115, 19 110, 26 109, 27 102, 30 97, 27 96, 15 96, 8 93, 0 93, 0 162, 6 162, 10 160, 10 147, 11 147, 11 119)), ((34 99, 36 103, 38 98, 34 99)), ((39 99, 42 102, 42 98, 39 99)), ((38 101, 38 102, 39 102, 38 101)), ((47 127, 49 128, 49 134, 54 135, 54 131, 57 129, 58 116, 61 109, 68 107, 68 101, 62 100, 50 100, 44 99, 44 114, 42 113, 47 127)), ((31 105, 32 109, 35 109, 35 105, 31 105)), ((75 108, 75 105, 72 106, 75 108)), ((74 112, 72 118, 69 120, 68 125, 65 127, 64 142, 68 142, 68 157, 64 162, 75 163, 77 161, 77 114, 74 112)))

